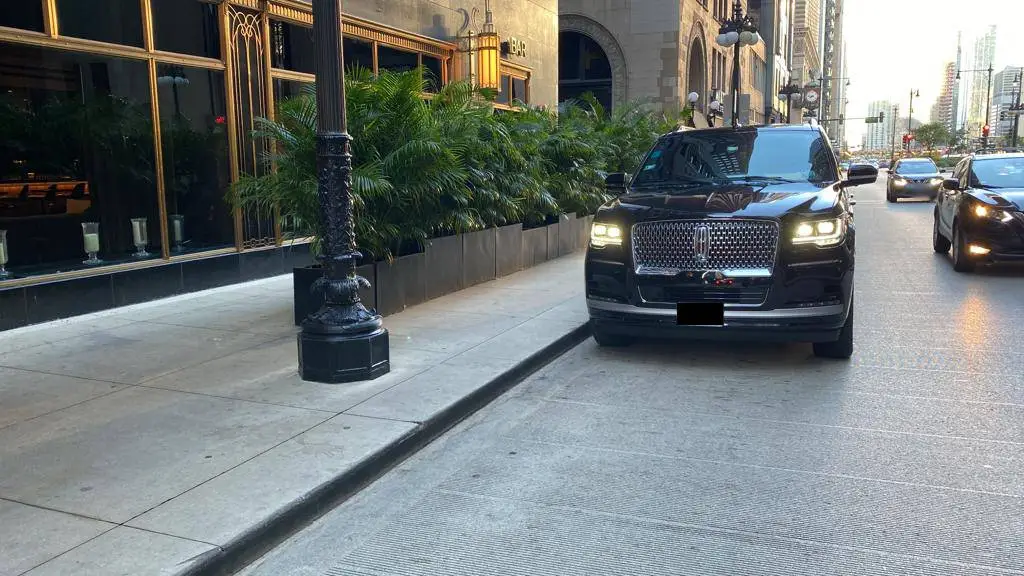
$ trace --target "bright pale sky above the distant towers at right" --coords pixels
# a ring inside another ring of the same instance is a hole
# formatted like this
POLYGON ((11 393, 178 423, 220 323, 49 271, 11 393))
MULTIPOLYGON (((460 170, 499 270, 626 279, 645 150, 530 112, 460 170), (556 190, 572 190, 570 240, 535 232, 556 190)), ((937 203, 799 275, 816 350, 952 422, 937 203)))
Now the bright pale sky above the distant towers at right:
MULTIPOLYGON (((851 118, 867 116, 868 105, 881 99, 899 102, 905 117, 915 89, 913 117, 927 121, 943 67, 956 59, 957 31, 965 54, 973 54, 975 38, 994 25, 994 72, 1024 66, 1024 0, 845 0, 844 12, 851 118)), ((851 146, 860 146, 863 131, 862 121, 847 122, 851 146)))

